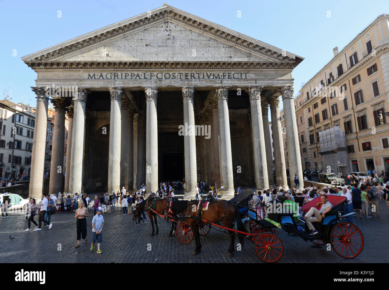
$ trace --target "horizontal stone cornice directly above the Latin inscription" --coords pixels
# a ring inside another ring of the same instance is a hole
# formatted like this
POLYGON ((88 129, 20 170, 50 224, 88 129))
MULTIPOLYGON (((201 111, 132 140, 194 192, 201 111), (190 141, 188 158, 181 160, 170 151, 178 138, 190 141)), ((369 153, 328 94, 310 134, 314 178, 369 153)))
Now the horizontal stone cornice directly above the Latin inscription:
POLYGON ((41 69, 286 69, 292 70, 294 62, 273 61, 26 61, 30 68, 41 69))

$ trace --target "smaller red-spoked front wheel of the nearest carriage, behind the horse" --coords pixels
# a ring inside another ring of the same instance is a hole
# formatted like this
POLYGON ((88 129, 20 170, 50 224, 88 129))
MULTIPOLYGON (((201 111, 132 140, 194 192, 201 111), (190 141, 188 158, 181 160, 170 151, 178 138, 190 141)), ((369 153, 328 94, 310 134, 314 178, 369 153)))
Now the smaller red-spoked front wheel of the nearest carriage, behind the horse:
POLYGON ((282 241, 274 234, 261 234, 254 243, 255 252, 265 262, 279 260, 284 252, 282 241))

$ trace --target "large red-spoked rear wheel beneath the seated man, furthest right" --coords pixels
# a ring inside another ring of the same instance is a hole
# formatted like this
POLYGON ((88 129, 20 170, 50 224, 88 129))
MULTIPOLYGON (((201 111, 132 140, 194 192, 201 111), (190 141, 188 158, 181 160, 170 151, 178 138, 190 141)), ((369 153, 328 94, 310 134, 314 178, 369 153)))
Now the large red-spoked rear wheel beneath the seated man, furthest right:
POLYGON ((331 244, 336 254, 351 259, 362 252, 363 235, 354 224, 341 222, 332 229, 331 244))

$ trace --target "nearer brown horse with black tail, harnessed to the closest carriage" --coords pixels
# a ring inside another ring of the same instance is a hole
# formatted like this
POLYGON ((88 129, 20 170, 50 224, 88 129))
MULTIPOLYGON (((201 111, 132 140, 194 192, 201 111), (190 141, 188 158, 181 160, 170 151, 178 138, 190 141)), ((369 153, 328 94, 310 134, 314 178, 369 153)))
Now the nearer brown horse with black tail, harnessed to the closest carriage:
MULTIPOLYGON (((193 251, 193 255, 197 255, 201 251, 201 242, 200 242, 200 233, 199 233, 199 219, 198 215, 198 200, 179 200, 173 201, 170 205, 170 210, 173 212, 173 215, 178 219, 178 214, 184 215, 184 220, 189 224, 193 231, 193 237, 195 238, 196 248, 193 251), (185 217, 186 216, 186 217, 185 217)), ((165 209, 165 214, 168 213, 168 209, 165 209)), ((238 231, 247 232, 245 229, 240 212, 237 206, 231 201, 219 200, 219 201, 210 201, 207 210, 203 210, 201 218, 209 222, 219 223, 222 222, 225 227, 232 229, 234 227, 234 219, 237 221, 238 231)), ((233 252, 235 252, 235 233, 233 231, 228 231, 230 234, 230 247, 227 250, 227 256, 232 257, 233 252)), ((239 242, 244 246, 244 237, 241 234, 238 234, 239 242)))

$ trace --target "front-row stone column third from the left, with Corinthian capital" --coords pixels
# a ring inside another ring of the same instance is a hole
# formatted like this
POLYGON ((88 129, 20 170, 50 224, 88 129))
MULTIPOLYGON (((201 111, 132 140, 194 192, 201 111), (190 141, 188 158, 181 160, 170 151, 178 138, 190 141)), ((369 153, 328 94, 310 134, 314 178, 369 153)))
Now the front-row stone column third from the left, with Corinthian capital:
POLYGON ((109 156, 108 156, 108 192, 116 192, 120 187, 121 159, 121 88, 110 88, 111 112, 109 122, 109 156))

